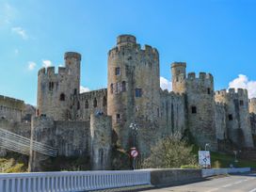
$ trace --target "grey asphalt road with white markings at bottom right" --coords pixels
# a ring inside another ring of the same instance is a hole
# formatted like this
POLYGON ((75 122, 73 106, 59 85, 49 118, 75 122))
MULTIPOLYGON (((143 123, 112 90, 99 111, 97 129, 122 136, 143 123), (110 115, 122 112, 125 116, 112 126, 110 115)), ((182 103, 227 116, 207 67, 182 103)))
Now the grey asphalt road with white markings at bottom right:
POLYGON ((212 178, 194 184, 143 190, 149 192, 256 192, 256 173, 212 178))

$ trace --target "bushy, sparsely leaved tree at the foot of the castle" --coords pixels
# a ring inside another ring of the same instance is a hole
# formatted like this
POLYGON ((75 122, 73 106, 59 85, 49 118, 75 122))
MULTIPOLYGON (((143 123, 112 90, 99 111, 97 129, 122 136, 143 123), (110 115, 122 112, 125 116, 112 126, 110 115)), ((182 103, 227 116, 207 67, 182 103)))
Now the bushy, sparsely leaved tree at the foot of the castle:
POLYGON ((152 147, 151 155, 144 161, 144 168, 181 168, 183 165, 196 165, 197 158, 192 154, 192 146, 179 134, 168 136, 152 147))

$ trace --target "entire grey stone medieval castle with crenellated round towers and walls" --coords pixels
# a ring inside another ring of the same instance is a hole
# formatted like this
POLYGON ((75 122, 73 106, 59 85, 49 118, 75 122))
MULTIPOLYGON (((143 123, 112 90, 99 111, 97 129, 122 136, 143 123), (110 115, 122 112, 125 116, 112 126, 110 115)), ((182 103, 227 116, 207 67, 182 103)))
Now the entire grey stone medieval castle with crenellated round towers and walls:
MULTIPOLYGON (((38 105, 31 138, 55 147, 58 155, 88 155, 93 169, 111 168, 113 146, 133 147, 148 156, 151 147, 174 133, 191 135, 204 148, 218 151, 222 141, 253 148, 256 99, 248 91, 215 91, 210 73, 186 73, 186 63, 171 64, 172 91, 160 88, 159 54, 141 48, 136 37, 120 35, 108 52, 107 88, 80 93, 81 55, 68 52, 65 67, 43 68, 38 74, 38 105)), ((41 170, 48 157, 30 154, 30 170, 41 170)))

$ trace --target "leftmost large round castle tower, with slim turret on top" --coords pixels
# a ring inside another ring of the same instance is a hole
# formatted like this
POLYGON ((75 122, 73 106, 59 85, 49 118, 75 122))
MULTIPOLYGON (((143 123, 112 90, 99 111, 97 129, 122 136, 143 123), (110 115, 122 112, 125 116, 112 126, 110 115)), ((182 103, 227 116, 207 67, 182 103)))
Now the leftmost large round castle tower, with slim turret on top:
POLYGON ((65 53, 65 67, 42 68, 38 74, 38 116, 75 120, 80 88, 81 55, 65 53))

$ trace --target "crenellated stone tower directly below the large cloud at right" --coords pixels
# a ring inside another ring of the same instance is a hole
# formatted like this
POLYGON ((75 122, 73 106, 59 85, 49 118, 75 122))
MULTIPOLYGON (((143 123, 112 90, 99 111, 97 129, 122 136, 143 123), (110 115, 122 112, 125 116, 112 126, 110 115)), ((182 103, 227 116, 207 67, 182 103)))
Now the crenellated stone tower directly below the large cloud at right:
POLYGON ((230 88, 216 91, 216 102, 226 104, 228 137, 238 147, 253 147, 248 113, 248 90, 230 88))

